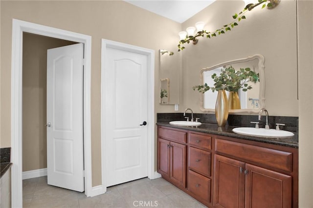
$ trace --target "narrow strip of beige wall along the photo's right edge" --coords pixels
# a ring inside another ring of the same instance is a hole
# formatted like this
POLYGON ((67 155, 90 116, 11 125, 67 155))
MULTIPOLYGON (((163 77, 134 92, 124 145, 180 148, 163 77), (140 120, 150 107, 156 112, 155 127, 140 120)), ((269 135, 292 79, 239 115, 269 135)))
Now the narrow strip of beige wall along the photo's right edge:
POLYGON ((299 0, 299 208, 313 208, 313 1, 299 0))

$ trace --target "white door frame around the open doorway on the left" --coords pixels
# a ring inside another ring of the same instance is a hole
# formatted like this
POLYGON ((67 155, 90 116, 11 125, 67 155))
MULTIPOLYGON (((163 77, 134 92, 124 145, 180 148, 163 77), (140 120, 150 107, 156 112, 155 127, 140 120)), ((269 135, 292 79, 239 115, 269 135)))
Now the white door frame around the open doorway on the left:
POLYGON ((44 25, 13 19, 11 76, 12 207, 22 207, 22 34, 23 32, 84 43, 84 164, 85 194, 93 195, 91 184, 91 37, 44 25))

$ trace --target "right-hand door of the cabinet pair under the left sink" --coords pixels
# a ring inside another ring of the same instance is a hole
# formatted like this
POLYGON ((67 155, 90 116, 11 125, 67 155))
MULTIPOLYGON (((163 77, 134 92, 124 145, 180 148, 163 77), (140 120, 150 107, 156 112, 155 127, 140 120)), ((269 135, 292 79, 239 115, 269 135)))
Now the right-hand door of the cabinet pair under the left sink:
POLYGON ((186 145, 170 142, 171 169, 170 179, 173 183, 186 187, 186 145))

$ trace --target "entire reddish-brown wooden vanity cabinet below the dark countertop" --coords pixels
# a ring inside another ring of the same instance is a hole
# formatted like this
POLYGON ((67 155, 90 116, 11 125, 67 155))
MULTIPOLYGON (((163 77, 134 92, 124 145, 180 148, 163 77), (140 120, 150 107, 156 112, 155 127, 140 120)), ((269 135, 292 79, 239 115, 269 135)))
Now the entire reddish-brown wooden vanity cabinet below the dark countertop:
POLYGON ((298 208, 298 149, 158 126, 157 171, 209 208, 298 208))

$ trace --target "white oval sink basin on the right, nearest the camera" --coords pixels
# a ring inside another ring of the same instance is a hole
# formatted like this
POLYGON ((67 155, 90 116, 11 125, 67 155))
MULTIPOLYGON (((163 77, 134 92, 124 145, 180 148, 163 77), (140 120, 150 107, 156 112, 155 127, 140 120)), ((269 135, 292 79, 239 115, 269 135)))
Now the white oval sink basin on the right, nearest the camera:
POLYGON ((257 129, 252 127, 240 127, 234 128, 233 132, 244 134, 244 135, 251 135, 251 136, 261 136, 261 137, 273 137, 273 138, 284 138, 284 137, 291 137, 294 134, 292 132, 287 132, 284 130, 275 130, 275 129, 257 129))

